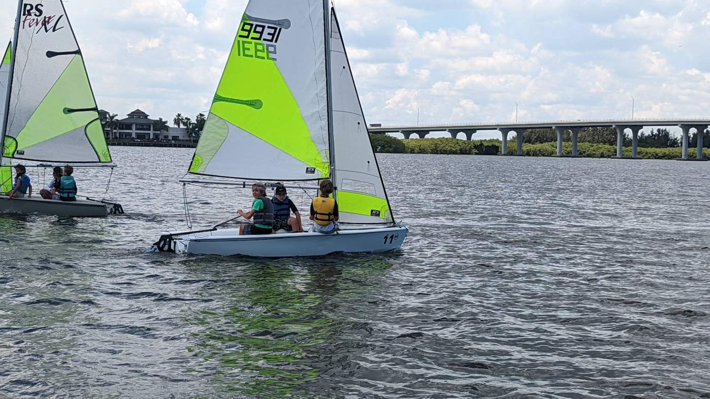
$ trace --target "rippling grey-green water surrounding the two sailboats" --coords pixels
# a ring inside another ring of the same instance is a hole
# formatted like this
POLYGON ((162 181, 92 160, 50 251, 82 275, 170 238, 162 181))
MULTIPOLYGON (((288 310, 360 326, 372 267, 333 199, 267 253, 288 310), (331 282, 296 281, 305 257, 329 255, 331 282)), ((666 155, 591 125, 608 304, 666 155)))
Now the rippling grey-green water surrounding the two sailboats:
POLYGON ((710 396, 710 164, 381 155, 402 253, 270 261, 144 253, 192 151, 112 151, 126 215, 0 217, 0 397, 710 396))

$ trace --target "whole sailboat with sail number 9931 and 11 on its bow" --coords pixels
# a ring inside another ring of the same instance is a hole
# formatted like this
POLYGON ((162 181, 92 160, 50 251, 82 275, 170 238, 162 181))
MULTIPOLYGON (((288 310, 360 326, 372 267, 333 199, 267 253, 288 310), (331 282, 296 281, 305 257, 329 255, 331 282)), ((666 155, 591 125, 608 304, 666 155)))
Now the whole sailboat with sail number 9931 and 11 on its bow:
POLYGON ((249 1, 188 170, 195 177, 180 182, 317 190, 330 179, 340 229, 239 236, 215 227, 164 234, 151 250, 292 257, 400 249, 408 229, 395 222, 366 126, 329 0, 249 1))

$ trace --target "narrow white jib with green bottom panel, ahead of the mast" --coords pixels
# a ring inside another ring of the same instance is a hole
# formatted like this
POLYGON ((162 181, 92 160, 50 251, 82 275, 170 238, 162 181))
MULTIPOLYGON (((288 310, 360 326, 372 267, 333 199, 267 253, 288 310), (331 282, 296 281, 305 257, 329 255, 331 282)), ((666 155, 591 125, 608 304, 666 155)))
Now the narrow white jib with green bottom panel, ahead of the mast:
POLYGON ((334 9, 331 15, 333 143, 340 222, 392 223, 390 204, 334 9))

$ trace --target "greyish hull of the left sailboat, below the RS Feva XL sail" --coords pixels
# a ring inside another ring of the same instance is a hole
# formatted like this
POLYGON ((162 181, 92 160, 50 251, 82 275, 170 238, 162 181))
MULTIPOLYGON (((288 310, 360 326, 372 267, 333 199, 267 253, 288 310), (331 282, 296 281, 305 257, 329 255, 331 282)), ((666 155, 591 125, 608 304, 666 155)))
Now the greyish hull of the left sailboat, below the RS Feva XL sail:
POLYGON ((0 214, 51 214, 71 217, 107 217, 110 209, 107 204, 77 200, 63 202, 44 200, 43 198, 0 197, 0 214))

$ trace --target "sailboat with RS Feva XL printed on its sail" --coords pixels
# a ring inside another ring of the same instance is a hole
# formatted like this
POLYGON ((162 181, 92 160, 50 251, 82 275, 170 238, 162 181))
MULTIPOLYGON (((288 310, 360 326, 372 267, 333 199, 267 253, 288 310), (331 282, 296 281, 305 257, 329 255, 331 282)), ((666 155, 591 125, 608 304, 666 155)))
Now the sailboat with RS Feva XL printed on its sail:
MULTIPOLYGON (((37 168, 114 168, 82 52, 61 0, 18 1, 15 31, 0 67, 0 186, 13 185, 12 160, 37 168)), ((80 180, 80 185, 81 185, 80 180)), ((86 183, 84 183, 86 184, 86 183)), ((122 212, 104 200, 9 200, 0 213, 106 217, 122 212)))

